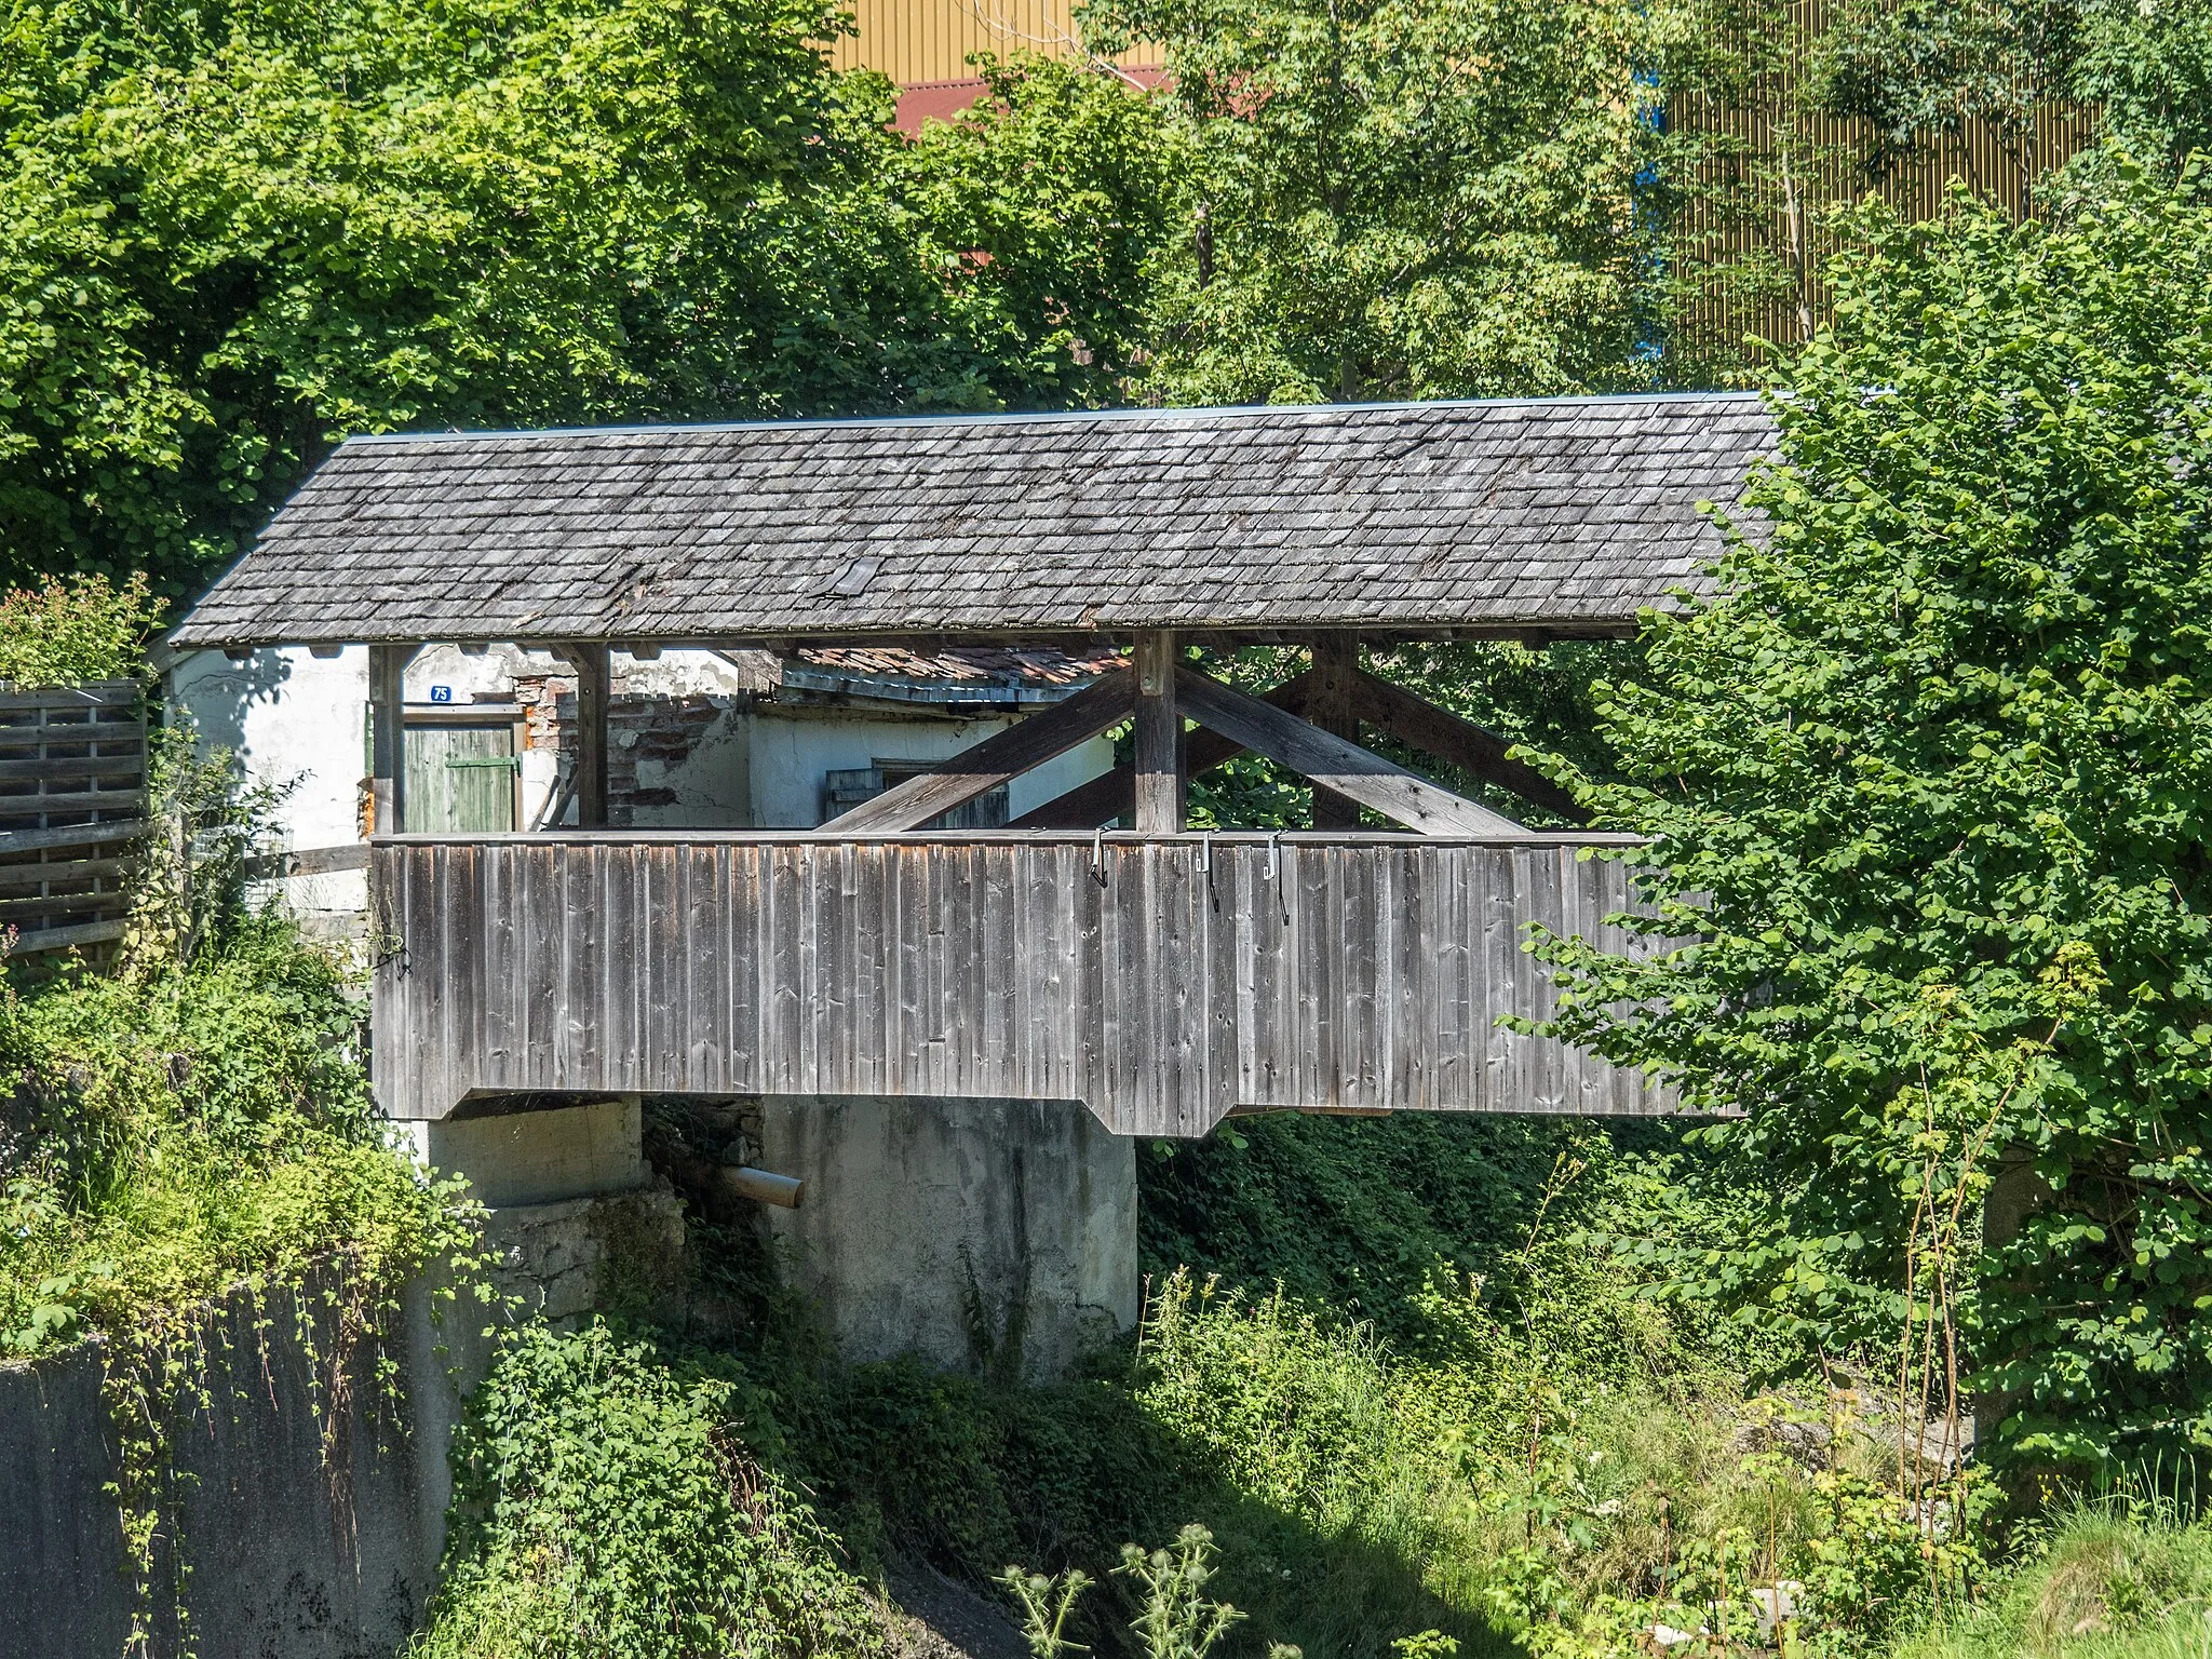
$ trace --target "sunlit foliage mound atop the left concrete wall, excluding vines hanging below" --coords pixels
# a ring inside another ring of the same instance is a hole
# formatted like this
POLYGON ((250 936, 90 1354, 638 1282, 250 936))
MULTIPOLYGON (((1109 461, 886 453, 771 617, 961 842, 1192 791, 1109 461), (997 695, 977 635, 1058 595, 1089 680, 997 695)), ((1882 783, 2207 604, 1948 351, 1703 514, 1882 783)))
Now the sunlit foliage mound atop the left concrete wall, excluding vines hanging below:
POLYGON ((274 920, 188 967, 0 998, 7 1349, 128 1343, 332 1254, 396 1294, 460 1248, 456 1194, 387 1148, 356 1044, 341 969, 274 920))

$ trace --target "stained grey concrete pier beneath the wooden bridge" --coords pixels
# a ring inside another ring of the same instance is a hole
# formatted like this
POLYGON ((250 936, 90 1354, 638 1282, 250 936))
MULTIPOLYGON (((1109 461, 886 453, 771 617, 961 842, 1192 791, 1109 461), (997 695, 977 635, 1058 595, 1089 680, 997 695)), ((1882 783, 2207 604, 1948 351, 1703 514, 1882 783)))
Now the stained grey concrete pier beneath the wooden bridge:
POLYGON ((1060 1376, 1137 1321, 1137 1152, 1079 1102, 770 1095, 781 1267, 849 1360, 1060 1376))

